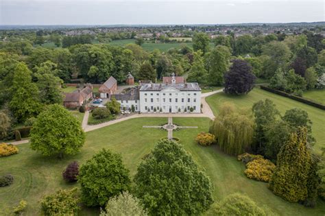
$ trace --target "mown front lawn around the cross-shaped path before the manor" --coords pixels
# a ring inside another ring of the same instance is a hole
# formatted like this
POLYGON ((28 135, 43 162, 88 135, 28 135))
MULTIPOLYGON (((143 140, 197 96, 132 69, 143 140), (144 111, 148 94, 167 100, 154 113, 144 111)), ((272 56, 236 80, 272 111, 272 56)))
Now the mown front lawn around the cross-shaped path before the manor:
MULTIPOLYGON (((173 118, 178 125, 195 126, 197 129, 182 129, 174 132, 181 139, 184 148, 190 152, 194 160, 206 170, 215 187, 213 197, 221 200, 230 193, 246 193, 257 202, 258 206, 267 206, 279 215, 324 215, 325 203, 318 202, 316 208, 304 208, 276 197, 267 189, 267 184, 249 180, 243 174, 245 166, 237 158, 219 152, 215 145, 201 147, 194 141, 197 133, 208 130, 207 118, 173 118)), ((167 118, 139 118, 122 121, 106 128, 94 130, 86 134, 86 143, 81 152, 75 156, 66 156, 62 160, 56 157, 45 157, 29 149, 29 144, 19 145, 19 154, 0 158, 0 175, 12 173, 14 184, 0 188, 0 209, 4 206, 18 204, 21 199, 27 200, 26 215, 37 215, 38 201, 49 193, 62 188, 67 189, 78 184, 67 184, 62 180, 62 171, 73 160, 84 163, 99 149, 105 147, 123 156, 125 166, 134 176, 141 158, 149 153, 160 138, 167 132, 156 128, 142 128, 143 125, 161 125, 167 118)), ((83 208, 80 215, 98 215, 98 209, 83 208)))

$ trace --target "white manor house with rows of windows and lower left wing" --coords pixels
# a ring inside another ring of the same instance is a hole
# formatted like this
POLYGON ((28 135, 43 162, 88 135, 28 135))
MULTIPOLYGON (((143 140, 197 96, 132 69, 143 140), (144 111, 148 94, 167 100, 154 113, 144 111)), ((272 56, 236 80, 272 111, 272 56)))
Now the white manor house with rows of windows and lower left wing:
POLYGON ((163 77, 162 84, 140 83, 124 94, 112 95, 121 110, 136 112, 201 112, 201 88, 196 82, 186 83, 183 77, 163 77))

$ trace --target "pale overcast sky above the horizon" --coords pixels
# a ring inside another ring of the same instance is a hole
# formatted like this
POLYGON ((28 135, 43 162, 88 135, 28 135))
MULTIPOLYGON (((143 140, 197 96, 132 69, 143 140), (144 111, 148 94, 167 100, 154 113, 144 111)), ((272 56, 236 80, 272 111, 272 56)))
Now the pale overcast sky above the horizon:
POLYGON ((228 24, 324 21, 325 0, 0 0, 0 25, 228 24))

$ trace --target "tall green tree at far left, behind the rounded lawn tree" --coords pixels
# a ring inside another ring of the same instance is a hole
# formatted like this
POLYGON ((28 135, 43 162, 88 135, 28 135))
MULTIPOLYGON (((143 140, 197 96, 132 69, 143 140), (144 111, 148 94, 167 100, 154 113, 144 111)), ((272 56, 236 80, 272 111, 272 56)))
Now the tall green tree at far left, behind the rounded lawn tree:
POLYGON ((17 64, 14 69, 10 92, 12 99, 9 106, 17 121, 23 122, 38 114, 40 111, 38 88, 32 82, 31 72, 24 63, 17 64))

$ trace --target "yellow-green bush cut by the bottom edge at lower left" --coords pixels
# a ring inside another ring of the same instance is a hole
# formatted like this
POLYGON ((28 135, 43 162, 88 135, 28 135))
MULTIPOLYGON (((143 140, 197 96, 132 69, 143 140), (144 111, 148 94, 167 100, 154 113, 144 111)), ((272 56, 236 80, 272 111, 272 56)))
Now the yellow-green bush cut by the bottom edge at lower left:
POLYGON ((40 211, 43 215, 76 215, 79 209, 76 191, 77 189, 58 190, 44 197, 40 202, 40 211))

